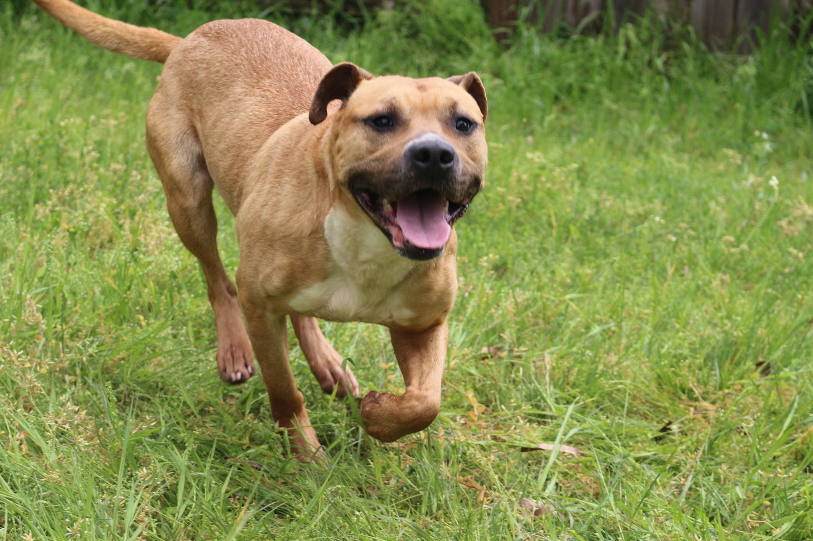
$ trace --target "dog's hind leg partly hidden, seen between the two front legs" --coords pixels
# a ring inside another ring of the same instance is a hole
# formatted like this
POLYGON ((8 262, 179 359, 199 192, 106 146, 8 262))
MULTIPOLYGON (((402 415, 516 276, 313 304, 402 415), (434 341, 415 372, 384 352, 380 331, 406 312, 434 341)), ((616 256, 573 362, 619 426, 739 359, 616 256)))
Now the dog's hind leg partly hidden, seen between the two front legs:
POLYGON ((337 396, 345 396, 350 392, 353 396, 359 395, 359 383, 356 382, 350 366, 341 368, 344 359, 337 353, 328 339, 324 337, 316 318, 307 318, 299 314, 291 314, 293 332, 297 335, 299 347, 305 354, 311 372, 316 376, 324 392, 333 392, 337 396))

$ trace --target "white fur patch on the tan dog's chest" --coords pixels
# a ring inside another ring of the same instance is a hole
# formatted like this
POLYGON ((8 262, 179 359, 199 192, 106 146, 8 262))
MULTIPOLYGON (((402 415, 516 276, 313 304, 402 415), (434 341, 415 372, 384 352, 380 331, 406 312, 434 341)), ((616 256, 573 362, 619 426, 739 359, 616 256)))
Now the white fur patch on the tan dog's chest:
POLYGON ((341 322, 406 325, 414 318, 398 286, 420 262, 399 256, 378 227, 341 209, 330 211, 324 232, 332 259, 328 278, 298 292, 292 309, 341 322))

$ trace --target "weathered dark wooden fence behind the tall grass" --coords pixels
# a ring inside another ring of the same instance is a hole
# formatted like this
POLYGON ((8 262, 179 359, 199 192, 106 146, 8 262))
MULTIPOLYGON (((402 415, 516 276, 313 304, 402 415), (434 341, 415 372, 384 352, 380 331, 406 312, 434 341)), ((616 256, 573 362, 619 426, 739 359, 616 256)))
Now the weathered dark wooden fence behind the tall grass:
POLYGON ((520 16, 550 32, 567 24, 571 28, 601 28, 612 14, 615 27, 658 11, 670 19, 691 23, 706 44, 715 49, 746 53, 758 29, 767 31, 772 17, 787 19, 813 8, 813 0, 486 0, 489 24, 498 40, 511 32, 520 16))

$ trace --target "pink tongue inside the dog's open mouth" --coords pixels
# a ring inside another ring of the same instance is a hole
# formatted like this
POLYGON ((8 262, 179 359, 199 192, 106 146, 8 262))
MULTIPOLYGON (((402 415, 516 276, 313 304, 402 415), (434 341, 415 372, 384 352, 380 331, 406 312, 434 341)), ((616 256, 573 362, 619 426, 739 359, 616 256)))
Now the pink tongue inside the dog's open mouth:
POLYGON ((440 193, 425 190, 398 201, 395 219, 412 245, 437 249, 446 245, 452 230, 446 222, 446 201, 440 193))

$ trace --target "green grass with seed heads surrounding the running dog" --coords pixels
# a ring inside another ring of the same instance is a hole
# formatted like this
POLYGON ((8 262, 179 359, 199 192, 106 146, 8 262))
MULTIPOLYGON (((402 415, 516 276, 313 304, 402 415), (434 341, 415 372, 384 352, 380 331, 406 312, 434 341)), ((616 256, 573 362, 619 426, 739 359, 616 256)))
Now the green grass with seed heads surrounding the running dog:
MULTIPOLYGON (((257 15, 91 6, 178 34, 257 15)), ((725 57, 649 20, 501 50, 468 0, 266 12, 333 61, 489 92, 441 414, 377 443, 292 340, 323 471, 259 378, 215 374, 142 141, 160 67, 0 10, 0 539, 813 536, 811 45, 725 57)), ((363 391, 402 390, 384 330, 324 328, 363 391)))

